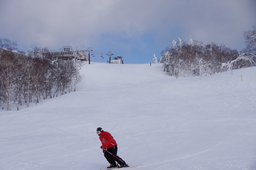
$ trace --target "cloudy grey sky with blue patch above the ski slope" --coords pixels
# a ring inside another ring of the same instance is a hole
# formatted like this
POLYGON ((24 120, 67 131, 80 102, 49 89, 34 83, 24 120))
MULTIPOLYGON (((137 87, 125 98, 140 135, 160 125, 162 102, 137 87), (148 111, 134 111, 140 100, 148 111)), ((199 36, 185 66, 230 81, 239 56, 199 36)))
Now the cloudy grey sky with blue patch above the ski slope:
POLYGON ((58 51, 92 47, 92 61, 113 52, 126 64, 153 62, 173 39, 245 47, 256 0, 0 0, 0 37, 58 51))

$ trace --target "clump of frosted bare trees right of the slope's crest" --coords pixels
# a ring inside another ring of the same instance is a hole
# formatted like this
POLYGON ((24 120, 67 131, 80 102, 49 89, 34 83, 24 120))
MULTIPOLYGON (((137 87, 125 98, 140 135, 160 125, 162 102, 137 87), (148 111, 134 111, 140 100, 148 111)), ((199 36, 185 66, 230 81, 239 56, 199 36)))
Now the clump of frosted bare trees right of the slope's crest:
POLYGON ((161 52, 160 63, 163 63, 164 71, 170 76, 183 73, 183 76, 187 77, 193 71, 194 74, 201 76, 206 72, 214 74, 226 71, 230 68, 227 65, 238 57, 238 53, 237 50, 231 50, 223 44, 211 42, 204 45, 191 38, 187 44, 178 38, 177 41, 173 40, 171 48, 166 47, 166 50, 161 52))

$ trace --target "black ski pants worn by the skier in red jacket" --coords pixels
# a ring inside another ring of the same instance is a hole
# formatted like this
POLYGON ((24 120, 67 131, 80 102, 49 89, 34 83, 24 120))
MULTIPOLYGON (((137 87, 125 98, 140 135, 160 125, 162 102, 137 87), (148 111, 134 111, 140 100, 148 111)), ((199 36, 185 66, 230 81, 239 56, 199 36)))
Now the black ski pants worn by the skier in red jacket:
POLYGON ((104 156, 105 158, 107 159, 107 161, 112 164, 112 165, 116 165, 116 162, 119 164, 119 165, 123 165, 123 164, 126 164, 122 158, 120 158, 119 156, 117 156, 117 145, 112 147, 112 148, 109 148, 107 149, 107 151, 105 151, 104 153, 104 156), (112 153, 113 155, 109 154, 107 151, 109 151, 110 153, 112 153), (118 159, 117 159, 118 158, 118 159), (121 162, 121 161, 123 162, 121 162), (116 162, 115 162, 116 161, 116 162))

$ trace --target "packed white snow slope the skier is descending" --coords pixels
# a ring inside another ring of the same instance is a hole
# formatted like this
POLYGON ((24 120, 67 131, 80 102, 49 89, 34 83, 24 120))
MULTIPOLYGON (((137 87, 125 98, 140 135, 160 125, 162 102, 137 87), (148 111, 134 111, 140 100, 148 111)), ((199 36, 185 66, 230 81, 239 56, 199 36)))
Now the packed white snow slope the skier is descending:
POLYGON ((97 127, 136 170, 256 169, 256 67, 176 79, 161 64, 93 63, 81 73, 75 92, 0 111, 0 170, 106 168, 97 127))

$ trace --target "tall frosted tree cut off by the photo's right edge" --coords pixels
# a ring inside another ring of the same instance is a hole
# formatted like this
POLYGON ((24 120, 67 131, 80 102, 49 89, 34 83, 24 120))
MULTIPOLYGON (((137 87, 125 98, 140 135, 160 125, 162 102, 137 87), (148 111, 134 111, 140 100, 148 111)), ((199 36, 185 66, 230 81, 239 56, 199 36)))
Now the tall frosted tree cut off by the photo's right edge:
POLYGON ((243 35, 246 44, 244 51, 256 54, 256 26, 253 25, 252 30, 245 31, 243 35))

